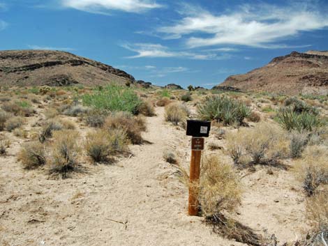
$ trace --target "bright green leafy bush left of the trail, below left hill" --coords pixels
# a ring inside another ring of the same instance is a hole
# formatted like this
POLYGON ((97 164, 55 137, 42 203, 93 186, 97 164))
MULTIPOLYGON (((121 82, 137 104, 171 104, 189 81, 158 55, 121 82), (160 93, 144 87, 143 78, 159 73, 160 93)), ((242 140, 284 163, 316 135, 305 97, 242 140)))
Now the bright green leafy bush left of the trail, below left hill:
POLYGON ((102 91, 94 91, 91 94, 82 95, 82 102, 89 107, 97 109, 107 109, 111 112, 130 112, 139 113, 139 107, 142 103, 137 94, 124 86, 110 85, 102 91))

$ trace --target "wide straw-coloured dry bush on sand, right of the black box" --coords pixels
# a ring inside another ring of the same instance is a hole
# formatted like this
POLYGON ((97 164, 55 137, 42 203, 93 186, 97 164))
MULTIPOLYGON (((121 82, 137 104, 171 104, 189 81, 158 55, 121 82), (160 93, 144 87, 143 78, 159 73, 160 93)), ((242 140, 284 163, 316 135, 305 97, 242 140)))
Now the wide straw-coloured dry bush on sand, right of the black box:
POLYGON ((242 155, 248 155, 252 164, 274 164, 288 157, 290 141, 278 125, 260 123, 255 128, 242 128, 227 136, 228 150, 234 163, 238 164, 242 155))

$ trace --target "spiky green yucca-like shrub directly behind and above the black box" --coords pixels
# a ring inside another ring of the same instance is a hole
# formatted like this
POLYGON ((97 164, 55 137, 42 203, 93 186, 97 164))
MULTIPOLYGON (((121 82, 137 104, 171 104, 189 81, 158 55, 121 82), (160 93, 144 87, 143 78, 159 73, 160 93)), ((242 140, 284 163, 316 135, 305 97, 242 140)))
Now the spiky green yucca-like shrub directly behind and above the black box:
POLYGON ((233 100, 225 95, 211 95, 198 105, 197 112, 203 120, 216 120, 223 122, 224 125, 234 123, 241 125, 244 118, 251 114, 251 109, 243 102, 233 100))

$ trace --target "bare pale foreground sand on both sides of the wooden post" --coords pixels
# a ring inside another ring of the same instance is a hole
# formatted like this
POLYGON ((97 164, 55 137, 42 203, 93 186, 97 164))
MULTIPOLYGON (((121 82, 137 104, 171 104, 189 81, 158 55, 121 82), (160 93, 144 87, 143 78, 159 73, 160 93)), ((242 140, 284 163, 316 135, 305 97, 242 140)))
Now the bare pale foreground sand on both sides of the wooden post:
MULTIPOLYGON (((131 146, 133 156, 113 165, 84 160, 85 172, 64 180, 24 171, 15 157, 23 140, 13 139, 0 157, 0 245, 243 245, 186 215, 186 187, 163 152, 175 151, 187 167, 190 139, 165 123, 163 108, 156 112, 143 134, 149 144, 131 146)), ((304 228, 304 195, 292 174, 259 168, 242 181, 238 220, 281 242, 295 240, 304 228)))

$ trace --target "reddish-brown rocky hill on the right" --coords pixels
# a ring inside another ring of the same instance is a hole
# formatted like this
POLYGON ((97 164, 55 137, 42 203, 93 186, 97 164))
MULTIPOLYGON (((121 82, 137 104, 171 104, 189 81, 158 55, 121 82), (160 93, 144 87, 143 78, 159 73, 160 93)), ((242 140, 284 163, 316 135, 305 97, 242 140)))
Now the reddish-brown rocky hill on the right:
POLYGON ((244 75, 232 75, 214 88, 222 86, 242 91, 327 95, 328 52, 311 50, 278 56, 266 66, 244 75))

